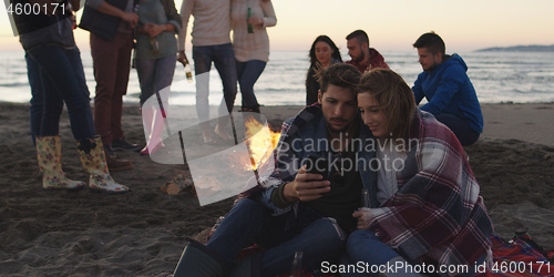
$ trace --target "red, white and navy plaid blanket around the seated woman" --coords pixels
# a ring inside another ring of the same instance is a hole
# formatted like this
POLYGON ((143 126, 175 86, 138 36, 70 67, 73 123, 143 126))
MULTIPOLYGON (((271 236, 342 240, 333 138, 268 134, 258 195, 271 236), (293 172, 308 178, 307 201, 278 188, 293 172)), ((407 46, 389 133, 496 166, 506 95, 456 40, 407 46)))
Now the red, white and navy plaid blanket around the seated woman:
POLYGON ((399 191, 372 209, 369 227, 413 260, 473 265, 493 230, 480 187, 454 134, 430 113, 416 113, 399 191))

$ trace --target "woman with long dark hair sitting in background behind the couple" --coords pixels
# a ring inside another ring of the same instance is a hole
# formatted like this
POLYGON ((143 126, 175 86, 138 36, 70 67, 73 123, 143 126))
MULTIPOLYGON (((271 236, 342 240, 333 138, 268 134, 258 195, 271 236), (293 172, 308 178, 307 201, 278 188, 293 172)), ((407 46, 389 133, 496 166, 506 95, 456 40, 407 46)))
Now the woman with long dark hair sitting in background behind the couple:
POLYGON ((317 37, 314 41, 309 57, 310 68, 306 76, 306 105, 311 105, 317 102, 319 83, 315 78, 316 71, 342 62, 339 49, 335 45, 335 42, 325 34, 317 37))

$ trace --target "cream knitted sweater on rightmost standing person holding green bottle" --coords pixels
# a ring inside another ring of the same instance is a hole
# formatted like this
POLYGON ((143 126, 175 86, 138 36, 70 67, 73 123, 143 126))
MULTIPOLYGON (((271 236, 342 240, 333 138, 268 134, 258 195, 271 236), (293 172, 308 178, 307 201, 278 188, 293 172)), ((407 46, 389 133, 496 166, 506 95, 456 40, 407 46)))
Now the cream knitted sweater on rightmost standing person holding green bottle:
POLYGON ((277 24, 274 7, 270 1, 261 0, 232 0, 230 19, 233 28, 233 50, 239 62, 269 60, 269 38, 266 27, 277 24), (252 16, 264 19, 263 25, 254 25, 254 33, 248 33, 247 16, 250 8, 252 16))

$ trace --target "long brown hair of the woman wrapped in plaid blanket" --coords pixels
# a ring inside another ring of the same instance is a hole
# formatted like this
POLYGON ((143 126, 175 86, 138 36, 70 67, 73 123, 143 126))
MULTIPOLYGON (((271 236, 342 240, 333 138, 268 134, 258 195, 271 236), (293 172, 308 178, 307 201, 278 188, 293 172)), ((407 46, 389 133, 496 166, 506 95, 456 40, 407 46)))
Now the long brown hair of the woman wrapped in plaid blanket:
POLYGON ((406 138, 416 113, 413 92, 394 71, 375 69, 366 72, 358 85, 358 93, 369 93, 376 98, 388 122, 391 138, 406 138))

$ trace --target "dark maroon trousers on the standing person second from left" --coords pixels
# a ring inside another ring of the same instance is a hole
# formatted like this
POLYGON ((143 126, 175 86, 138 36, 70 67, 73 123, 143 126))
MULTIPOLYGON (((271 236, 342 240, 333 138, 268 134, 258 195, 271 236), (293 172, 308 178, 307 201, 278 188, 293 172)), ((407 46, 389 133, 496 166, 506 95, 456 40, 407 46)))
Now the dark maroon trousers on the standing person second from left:
POLYGON ((94 126, 103 144, 124 136, 121 126, 123 95, 127 93, 133 34, 117 32, 113 41, 91 33, 91 54, 96 80, 94 126))

